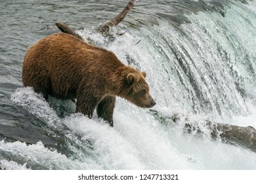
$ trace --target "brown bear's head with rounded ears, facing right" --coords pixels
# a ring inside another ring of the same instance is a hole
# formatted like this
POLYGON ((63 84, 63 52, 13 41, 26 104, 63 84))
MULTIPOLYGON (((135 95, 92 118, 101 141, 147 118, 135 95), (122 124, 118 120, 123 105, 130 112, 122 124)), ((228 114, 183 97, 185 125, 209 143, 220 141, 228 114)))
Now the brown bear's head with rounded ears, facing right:
POLYGON ((133 71, 128 73, 125 78, 128 87, 123 97, 138 107, 150 108, 156 105, 156 102, 149 93, 145 78, 145 72, 133 71))

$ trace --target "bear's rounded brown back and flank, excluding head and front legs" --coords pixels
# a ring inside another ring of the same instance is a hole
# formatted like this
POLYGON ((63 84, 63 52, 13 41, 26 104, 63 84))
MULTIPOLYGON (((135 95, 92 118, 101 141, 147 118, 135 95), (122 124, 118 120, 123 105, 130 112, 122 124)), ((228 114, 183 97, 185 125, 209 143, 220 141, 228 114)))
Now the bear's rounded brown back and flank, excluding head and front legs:
POLYGON ((24 86, 61 99, 74 97, 81 80, 102 79, 123 63, 104 48, 87 44, 72 35, 56 33, 33 44, 22 67, 24 86))

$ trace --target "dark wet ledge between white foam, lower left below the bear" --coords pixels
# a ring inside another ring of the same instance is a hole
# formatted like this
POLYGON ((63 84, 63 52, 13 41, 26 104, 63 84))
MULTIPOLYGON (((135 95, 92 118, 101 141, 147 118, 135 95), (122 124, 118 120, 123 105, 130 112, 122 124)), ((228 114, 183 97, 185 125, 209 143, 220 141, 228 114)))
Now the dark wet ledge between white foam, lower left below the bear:
POLYGON ((47 148, 58 150, 70 156, 66 137, 51 129, 39 118, 33 116, 22 107, 0 104, 0 140, 6 142, 26 142, 35 144, 39 141, 47 148))

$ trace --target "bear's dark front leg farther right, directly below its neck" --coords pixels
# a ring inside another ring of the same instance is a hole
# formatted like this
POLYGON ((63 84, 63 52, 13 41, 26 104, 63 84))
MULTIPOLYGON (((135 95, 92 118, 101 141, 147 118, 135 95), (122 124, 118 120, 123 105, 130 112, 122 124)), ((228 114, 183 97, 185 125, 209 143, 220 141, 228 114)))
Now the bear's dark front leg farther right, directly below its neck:
POLYGON ((108 124, 110 124, 110 126, 112 127, 114 125, 113 113, 114 113, 115 105, 116 105, 116 97, 108 96, 102 99, 102 101, 100 101, 97 107, 98 117, 108 122, 108 124))

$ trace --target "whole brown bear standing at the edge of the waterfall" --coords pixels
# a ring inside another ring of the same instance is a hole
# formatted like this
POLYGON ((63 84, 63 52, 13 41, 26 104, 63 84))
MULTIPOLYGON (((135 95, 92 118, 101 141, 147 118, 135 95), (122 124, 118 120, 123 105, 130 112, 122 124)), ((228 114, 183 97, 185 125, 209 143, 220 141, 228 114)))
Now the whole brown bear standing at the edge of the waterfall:
POLYGON ((22 82, 47 99, 77 99, 76 111, 113 126, 116 96, 150 108, 146 73, 126 66, 113 52, 87 44, 72 35, 56 33, 33 44, 24 58, 22 82))

